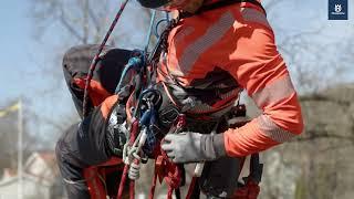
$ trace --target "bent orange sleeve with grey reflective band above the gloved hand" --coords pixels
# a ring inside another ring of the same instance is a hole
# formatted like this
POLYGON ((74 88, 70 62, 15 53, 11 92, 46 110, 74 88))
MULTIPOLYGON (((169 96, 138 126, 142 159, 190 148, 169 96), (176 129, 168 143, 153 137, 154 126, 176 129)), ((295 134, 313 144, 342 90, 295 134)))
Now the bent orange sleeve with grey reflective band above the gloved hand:
POLYGON ((249 23, 238 30, 237 49, 227 66, 262 115, 223 134, 229 156, 247 156, 301 134, 303 121, 296 92, 277 50, 270 28, 249 23))

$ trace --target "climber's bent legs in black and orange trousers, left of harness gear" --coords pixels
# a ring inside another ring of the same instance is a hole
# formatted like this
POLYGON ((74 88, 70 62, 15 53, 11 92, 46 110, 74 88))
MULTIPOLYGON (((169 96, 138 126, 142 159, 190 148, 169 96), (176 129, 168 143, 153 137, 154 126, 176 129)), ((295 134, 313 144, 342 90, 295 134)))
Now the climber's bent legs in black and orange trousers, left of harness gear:
MULTIPOLYGON (((131 57, 132 52, 122 49, 105 48, 100 55, 93 80, 90 84, 90 114, 83 118, 83 95, 85 78, 90 63, 97 52, 98 45, 80 45, 70 49, 63 57, 64 77, 82 121, 72 125, 56 143, 56 159, 70 199, 93 198, 87 186, 94 178, 85 175, 91 166, 98 166, 112 159, 108 149, 107 100, 113 95, 118 83, 122 70, 131 57), (86 170, 85 170, 86 169, 86 170)), ((125 109, 124 109, 125 112, 125 109)), ((111 165, 119 168, 121 160, 111 165)), ((110 164, 108 164, 110 165, 110 164)), ((95 171, 95 170, 93 170, 95 171)), ((108 196, 116 195, 116 181, 121 179, 121 170, 107 176, 108 196)), ((94 190, 100 193, 102 190, 94 190)), ((105 196, 101 196, 105 198, 105 196)), ((96 196, 96 198, 100 198, 96 196)))

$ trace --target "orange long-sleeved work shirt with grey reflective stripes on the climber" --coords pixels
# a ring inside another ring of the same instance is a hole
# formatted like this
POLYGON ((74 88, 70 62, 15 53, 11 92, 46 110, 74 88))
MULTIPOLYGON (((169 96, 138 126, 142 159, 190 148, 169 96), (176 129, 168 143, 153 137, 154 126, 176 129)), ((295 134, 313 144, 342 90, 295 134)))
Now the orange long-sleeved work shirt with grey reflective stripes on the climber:
POLYGON ((261 9, 238 3, 181 19, 168 38, 158 80, 192 114, 228 111, 246 88, 262 114, 226 130, 229 156, 268 149, 301 134, 301 107, 261 9))

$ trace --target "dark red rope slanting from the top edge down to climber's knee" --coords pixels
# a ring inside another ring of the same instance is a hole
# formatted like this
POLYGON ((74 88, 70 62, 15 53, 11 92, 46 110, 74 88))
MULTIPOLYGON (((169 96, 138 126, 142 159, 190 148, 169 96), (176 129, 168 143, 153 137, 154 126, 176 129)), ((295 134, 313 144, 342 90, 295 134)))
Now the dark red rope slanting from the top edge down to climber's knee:
POLYGON ((90 86, 90 82, 92 80, 92 76, 93 76, 93 72, 97 65, 97 62, 98 62, 98 57, 100 57, 100 54, 102 53, 105 44, 107 43, 108 41, 108 38, 111 36, 112 32, 113 32, 113 29, 115 28, 115 25, 117 24, 122 13, 123 13, 123 10, 125 9, 125 6, 127 4, 129 0, 125 0, 122 6, 121 6, 121 9, 118 10, 117 14, 115 15, 106 35, 104 36, 101 45, 100 45, 100 49, 97 51, 97 53, 95 54, 94 59, 92 60, 91 62, 91 65, 90 65, 90 70, 88 70, 88 74, 87 74, 87 78, 86 78, 86 83, 85 83, 85 90, 84 90, 84 101, 83 101, 83 116, 86 117, 87 116, 87 100, 88 100, 88 86, 90 86))

